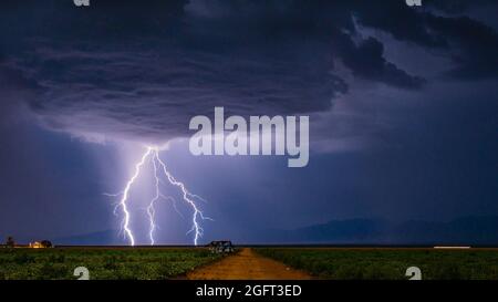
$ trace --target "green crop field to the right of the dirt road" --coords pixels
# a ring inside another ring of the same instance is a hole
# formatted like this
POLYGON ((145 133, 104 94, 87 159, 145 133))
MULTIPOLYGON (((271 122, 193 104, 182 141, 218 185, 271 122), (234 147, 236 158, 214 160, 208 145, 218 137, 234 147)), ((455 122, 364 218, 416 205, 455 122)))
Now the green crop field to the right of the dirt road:
POLYGON ((418 267, 424 280, 498 280, 498 250, 260 248, 266 257, 318 279, 406 280, 418 267))

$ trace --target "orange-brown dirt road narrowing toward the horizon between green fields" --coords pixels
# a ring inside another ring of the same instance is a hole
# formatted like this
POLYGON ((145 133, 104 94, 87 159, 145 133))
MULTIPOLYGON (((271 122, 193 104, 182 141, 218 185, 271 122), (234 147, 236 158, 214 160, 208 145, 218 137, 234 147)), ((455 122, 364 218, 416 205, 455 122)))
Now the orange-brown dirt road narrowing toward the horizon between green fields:
POLYGON ((305 280, 302 271, 293 270, 276 260, 264 258, 249 248, 210 265, 187 274, 191 280, 305 280))

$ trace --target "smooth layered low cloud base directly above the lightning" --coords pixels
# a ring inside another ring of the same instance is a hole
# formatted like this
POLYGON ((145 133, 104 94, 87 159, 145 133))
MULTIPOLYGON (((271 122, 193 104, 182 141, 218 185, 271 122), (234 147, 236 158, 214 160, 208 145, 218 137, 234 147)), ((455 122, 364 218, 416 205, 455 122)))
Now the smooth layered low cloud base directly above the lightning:
POLYGON ((31 100, 31 108, 48 126, 75 134, 172 138, 186 133, 191 116, 211 114, 215 106, 242 115, 322 111, 345 91, 324 66, 298 58, 261 61, 245 50, 228 61, 222 54, 162 50, 45 49, 37 56, 43 60, 27 72, 42 73, 45 92, 31 100))

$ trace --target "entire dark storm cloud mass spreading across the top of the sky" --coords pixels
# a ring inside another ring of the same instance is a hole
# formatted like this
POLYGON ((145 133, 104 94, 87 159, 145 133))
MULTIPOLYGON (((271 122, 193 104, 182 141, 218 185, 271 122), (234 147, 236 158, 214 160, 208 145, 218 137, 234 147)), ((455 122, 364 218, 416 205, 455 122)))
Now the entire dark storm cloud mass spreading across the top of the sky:
POLYGON ((362 37, 356 22, 450 53, 452 75, 497 75, 496 61, 484 64, 494 56, 492 31, 403 1, 102 0, 85 9, 71 1, 8 1, 4 7, 0 50, 6 64, 35 83, 31 111, 50 128, 95 138, 163 142, 185 135, 191 116, 221 105, 241 115, 328 111, 349 90, 338 62, 355 79, 422 88, 425 80, 390 62, 384 55, 390 45, 362 37), (471 25, 477 38, 459 34, 453 23, 471 25))

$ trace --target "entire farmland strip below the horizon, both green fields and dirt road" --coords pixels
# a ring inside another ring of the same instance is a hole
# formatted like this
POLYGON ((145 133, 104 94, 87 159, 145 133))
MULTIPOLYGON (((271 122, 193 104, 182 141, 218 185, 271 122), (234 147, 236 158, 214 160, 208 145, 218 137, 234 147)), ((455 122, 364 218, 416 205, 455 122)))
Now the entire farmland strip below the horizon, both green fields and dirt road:
POLYGON ((222 257, 206 248, 0 248, 0 280, 75 280, 76 267, 92 280, 406 280, 409 267, 424 280, 498 280, 498 250, 259 247, 222 257))

